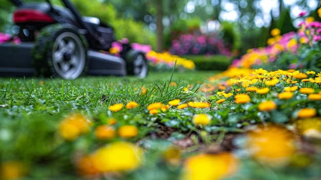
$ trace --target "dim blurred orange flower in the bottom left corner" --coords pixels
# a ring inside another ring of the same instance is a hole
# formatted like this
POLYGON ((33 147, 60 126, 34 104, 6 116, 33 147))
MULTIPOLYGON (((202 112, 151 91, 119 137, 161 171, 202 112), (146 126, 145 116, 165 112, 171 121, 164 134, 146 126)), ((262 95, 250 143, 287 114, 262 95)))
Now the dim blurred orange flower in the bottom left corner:
POLYGON ((7 161, 0 164, 0 179, 19 179, 26 174, 26 167, 18 161, 7 161))

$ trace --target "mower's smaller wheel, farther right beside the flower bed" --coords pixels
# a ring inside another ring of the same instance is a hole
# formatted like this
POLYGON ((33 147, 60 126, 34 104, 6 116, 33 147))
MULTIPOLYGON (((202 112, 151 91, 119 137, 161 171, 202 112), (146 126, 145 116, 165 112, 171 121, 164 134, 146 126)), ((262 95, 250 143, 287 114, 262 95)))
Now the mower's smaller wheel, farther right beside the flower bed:
POLYGON ((127 73, 137 77, 146 77, 148 63, 145 54, 131 49, 126 55, 127 73))

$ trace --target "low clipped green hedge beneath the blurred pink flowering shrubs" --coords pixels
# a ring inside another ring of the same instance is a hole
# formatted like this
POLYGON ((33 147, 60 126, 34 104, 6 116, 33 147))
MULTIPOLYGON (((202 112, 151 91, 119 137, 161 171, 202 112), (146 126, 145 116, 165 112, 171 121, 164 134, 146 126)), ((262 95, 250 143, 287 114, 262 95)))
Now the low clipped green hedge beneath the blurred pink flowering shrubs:
POLYGON ((191 59, 197 70, 226 70, 232 63, 232 57, 226 55, 184 55, 191 59))

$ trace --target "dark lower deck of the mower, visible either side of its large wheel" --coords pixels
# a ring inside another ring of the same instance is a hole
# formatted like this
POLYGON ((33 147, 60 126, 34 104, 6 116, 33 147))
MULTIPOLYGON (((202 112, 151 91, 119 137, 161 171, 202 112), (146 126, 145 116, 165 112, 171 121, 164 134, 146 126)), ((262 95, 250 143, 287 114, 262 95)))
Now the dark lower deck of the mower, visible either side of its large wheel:
MULTIPOLYGON (((33 43, 0 44, 0 76, 32 76, 35 69, 32 63, 31 49, 33 43)), ((88 50, 89 61, 87 75, 127 75, 126 62, 123 58, 105 54, 95 50, 88 50)))

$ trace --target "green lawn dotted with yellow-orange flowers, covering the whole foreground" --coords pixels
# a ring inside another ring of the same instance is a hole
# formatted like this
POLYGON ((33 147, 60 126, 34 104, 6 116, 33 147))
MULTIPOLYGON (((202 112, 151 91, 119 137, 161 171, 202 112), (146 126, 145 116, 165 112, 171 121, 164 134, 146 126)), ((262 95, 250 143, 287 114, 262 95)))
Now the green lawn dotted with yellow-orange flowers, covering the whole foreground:
POLYGON ((2 178, 318 179, 321 95, 300 75, 1 78, 2 178))

